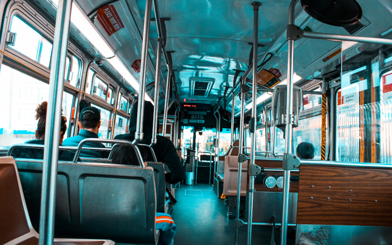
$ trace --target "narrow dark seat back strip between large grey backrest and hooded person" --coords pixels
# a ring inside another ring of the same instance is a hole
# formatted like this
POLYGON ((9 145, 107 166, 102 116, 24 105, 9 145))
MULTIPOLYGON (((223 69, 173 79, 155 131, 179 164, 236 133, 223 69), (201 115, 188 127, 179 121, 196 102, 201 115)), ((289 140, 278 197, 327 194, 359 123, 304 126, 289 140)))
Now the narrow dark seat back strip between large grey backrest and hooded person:
POLYGON ((165 213, 166 185, 165 170, 163 163, 147 163, 148 167, 154 170, 155 193, 156 193, 156 212, 165 213))

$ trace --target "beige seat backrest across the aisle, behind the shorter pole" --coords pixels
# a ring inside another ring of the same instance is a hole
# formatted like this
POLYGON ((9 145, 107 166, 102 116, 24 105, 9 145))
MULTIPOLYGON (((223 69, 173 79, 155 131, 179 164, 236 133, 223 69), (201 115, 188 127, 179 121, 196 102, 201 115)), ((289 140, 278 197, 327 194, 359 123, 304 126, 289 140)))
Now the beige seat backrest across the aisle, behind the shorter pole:
MULTIPOLYGON (((246 173, 248 169, 247 163, 242 163, 241 168, 241 196, 246 196, 246 173)), ((225 156, 223 194, 225 196, 237 196, 237 184, 238 156, 225 156)))

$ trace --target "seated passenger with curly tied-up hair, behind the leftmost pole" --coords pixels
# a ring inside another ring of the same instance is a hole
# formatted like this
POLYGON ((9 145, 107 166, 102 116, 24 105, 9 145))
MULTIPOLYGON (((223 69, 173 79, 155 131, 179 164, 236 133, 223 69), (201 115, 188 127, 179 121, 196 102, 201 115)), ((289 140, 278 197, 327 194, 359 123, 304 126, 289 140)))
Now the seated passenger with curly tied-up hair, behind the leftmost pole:
MULTIPOLYGON (((35 119, 38 120, 37 130, 35 130, 36 140, 26 141, 25 144, 45 145, 45 125, 46 125, 46 112, 48 108, 48 102, 44 101, 37 106, 35 111, 35 119)), ((64 134, 67 131, 67 118, 61 116, 60 126, 60 146, 63 143, 64 134)), ((30 158, 30 159, 44 159, 43 148, 27 148, 20 147, 12 151, 11 156, 14 158, 30 158)), ((69 150, 60 150, 58 160, 60 161, 72 161, 74 152, 69 150)))

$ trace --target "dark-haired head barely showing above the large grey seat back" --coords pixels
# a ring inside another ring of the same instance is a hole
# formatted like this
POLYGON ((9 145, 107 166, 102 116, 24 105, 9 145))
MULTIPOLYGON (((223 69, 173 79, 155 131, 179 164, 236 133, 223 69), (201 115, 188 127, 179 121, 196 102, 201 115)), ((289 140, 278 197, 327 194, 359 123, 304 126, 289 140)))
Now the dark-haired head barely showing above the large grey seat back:
MULTIPOLYGON (((143 161, 147 158, 147 151, 144 147, 138 147, 143 161)), ((136 165, 139 166, 135 149, 131 145, 120 145, 114 148, 112 164, 136 165)))

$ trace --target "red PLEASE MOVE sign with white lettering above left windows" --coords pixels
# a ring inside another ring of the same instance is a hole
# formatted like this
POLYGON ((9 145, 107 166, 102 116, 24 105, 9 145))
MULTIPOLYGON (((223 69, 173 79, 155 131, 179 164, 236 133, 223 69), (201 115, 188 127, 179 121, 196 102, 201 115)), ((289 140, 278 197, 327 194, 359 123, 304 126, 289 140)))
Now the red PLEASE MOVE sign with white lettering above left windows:
POLYGON ((97 20, 109 36, 124 28, 123 22, 113 5, 105 5, 98 9, 97 20))

